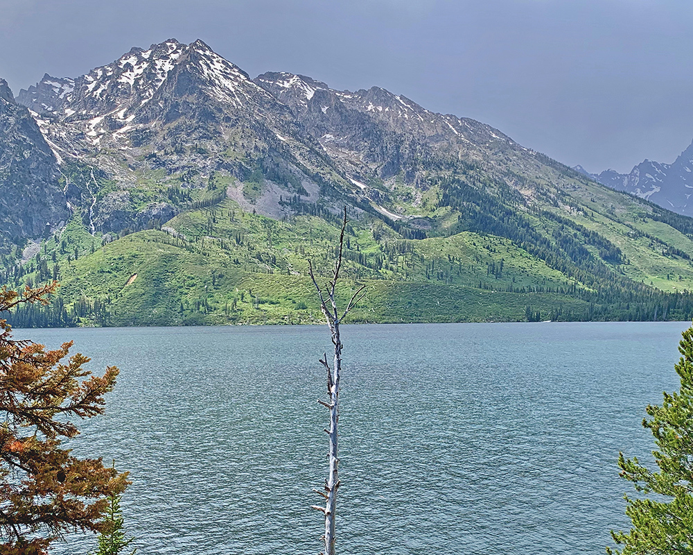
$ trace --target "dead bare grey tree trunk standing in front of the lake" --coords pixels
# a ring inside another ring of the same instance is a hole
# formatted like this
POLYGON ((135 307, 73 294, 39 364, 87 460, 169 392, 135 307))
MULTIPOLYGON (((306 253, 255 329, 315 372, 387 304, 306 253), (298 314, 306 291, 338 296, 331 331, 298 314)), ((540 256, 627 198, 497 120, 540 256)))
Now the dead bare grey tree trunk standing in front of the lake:
POLYGON ((327 321, 327 325, 332 333, 332 343, 335 345, 335 357, 333 361, 332 368, 327 361, 327 353, 325 353, 324 358, 320 360, 327 370, 327 391, 330 395, 329 402, 318 400, 319 404, 330 410, 330 429, 325 429, 325 432, 330 438, 330 473, 328 479, 325 480, 324 491, 313 490, 315 493, 319 493, 326 499, 326 504, 324 507, 312 505, 313 509, 322 511, 325 515, 325 549, 322 555, 335 555, 335 509, 337 506, 337 489, 340 487, 339 480, 339 456, 337 451, 337 439, 339 434, 337 434, 337 422, 339 421, 339 395, 340 395, 340 374, 342 372, 342 341, 340 339, 340 323, 349 314, 349 311, 356 305, 356 303, 363 296, 363 289, 365 286, 361 286, 357 289, 356 293, 353 293, 351 300, 347 303, 347 308, 344 309, 340 315, 337 310, 337 302, 335 300, 335 289, 337 288, 337 280, 340 277, 340 270, 342 269, 342 249, 344 247, 344 230, 347 228, 347 207, 344 207, 344 221, 342 221, 342 231, 340 232, 340 242, 337 248, 337 259, 335 259, 335 265, 332 270, 332 279, 328 282, 325 287, 325 294, 320 286, 315 280, 315 275, 313 273, 313 264, 308 261, 308 270, 310 273, 310 279, 313 280, 315 289, 317 290, 317 296, 320 300, 320 309, 322 309, 322 314, 324 314, 327 321), (329 305, 327 304, 329 302, 329 305))

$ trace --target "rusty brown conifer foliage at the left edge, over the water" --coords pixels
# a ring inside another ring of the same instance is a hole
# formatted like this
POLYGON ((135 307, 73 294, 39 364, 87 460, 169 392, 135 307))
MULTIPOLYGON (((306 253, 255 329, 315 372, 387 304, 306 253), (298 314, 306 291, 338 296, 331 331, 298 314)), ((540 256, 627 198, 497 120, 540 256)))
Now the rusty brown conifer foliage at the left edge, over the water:
MULTIPOLYGON (((23 302, 46 304, 58 284, 22 293, 0 289, 0 314, 23 302)), ((104 411, 103 395, 118 368, 103 376, 69 355, 72 343, 44 345, 12 339, 0 319, 0 553, 44 555, 52 540, 72 530, 101 531, 107 499, 125 490, 128 474, 104 468, 101 459, 78 459, 62 449, 79 431, 71 421, 104 411)))

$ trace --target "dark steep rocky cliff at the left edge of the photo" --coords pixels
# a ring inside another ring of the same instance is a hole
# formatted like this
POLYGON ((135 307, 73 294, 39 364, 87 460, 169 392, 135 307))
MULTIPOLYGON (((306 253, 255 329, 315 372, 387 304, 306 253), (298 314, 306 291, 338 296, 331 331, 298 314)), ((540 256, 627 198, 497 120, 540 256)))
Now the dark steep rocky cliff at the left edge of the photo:
POLYGON ((67 220, 58 160, 0 79, 0 242, 42 237, 67 220))

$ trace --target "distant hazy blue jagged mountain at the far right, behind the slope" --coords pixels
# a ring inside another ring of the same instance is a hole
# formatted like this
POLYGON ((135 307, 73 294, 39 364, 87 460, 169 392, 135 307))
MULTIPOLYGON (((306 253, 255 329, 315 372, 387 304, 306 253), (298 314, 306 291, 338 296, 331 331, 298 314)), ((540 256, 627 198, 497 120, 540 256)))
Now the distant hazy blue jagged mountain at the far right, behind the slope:
POLYGON ((693 215, 693 201, 690 200, 693 194, 693 143, 673 164, 644 160, 628 174, 613 169, 588 173, 581 166, 574 169, 617 191, 651 200, 678 214, 693 215))

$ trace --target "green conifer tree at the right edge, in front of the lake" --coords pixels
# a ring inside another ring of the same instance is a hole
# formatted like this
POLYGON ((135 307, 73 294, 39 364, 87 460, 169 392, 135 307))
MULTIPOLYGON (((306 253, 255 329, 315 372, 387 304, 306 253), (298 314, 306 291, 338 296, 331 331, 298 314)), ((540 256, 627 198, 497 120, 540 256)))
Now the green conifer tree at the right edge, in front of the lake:
POLYGON ((678 350, 681 359, 674 368, 681 388, 664 393, 661 407, 647 407, 649 419, 642 421, 655 438, 658 470, 619 454, 621 476, 641 495, 626 495, 633 528, 611 532, 622 547, 607 547, 610 555, 693 554, 693 327, 683 332, 678 350))

